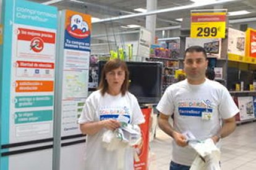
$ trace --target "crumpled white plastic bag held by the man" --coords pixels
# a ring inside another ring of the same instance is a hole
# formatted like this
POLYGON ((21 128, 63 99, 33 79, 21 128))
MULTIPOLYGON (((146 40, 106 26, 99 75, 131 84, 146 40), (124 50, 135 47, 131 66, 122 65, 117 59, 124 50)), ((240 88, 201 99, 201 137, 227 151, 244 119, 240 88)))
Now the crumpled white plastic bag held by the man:
POLYGON ((190 170, 221 170, 221 152, 212 139, 201 142, 189 142, 189 145, 198 153, 190 170))

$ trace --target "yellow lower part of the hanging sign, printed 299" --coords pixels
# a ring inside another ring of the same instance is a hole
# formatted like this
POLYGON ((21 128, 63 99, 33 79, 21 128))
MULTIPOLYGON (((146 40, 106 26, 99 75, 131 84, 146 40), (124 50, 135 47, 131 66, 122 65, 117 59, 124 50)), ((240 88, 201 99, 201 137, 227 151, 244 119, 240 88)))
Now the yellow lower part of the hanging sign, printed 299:
POLYGON ((191 23, 191 38, 225 38, 226 22, 191 23))

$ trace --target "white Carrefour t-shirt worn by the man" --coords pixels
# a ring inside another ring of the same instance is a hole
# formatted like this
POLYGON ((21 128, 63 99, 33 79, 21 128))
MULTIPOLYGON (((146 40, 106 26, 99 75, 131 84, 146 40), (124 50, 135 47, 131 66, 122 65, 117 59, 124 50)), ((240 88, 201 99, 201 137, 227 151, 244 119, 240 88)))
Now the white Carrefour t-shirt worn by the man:
MULTIPOLYGON (((226 87, 210 79, 199 85, 189 84, 185 79, 169 86, 156 108, 164 115, 174 114, 175 131, 190 131, 200 140, 216 135, 221 128, 221 120, 232 118, 239 112, 226 87), (202 119, 205 113, 210 113, 210 120, 202 119)), ((195 156, 192 148, 179 147, 173 141, 175 163, 191 166, 195 156)))

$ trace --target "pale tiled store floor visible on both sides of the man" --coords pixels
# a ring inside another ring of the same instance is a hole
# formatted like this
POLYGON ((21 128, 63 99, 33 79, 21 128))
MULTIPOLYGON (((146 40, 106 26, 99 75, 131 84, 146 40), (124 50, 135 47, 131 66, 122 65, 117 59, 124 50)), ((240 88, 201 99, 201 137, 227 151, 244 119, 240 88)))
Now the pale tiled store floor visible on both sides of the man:
MULTIPOLYGON (((150 170, 169 170, 172 140, 157 130, 156 139, 150 143, 150 170)), ((223 139, 221 169, 256 169, 256 122, 237 126, 231 136, 223 139)))

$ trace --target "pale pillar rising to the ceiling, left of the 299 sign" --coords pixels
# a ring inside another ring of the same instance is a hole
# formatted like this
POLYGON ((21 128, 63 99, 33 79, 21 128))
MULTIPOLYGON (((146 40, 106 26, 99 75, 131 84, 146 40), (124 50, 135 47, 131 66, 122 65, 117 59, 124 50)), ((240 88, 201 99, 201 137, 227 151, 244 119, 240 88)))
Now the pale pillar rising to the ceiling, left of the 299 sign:
MULTIPOLYGON (((147 0, 147 12, 157 9, 157 0, 147 0)), ((155 44, 156 15, 147 15, 146 29, 151 32, 151 44, 155 44)))

